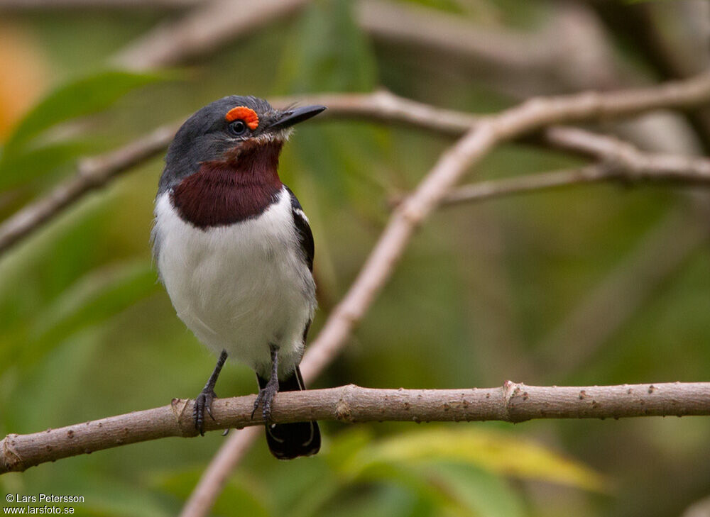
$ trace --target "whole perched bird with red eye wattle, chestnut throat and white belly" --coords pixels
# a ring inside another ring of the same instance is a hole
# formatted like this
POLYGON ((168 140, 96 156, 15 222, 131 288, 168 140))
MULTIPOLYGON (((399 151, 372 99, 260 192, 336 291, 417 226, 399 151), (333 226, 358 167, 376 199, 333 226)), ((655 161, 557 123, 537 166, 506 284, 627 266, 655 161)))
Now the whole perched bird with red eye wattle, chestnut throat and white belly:
MULTIPOLYGON (((271 423, 278 391, 305 389, 298 369, 316 306, 313 235, 278 176, 291 126, 324 106, 280 111, 263 99, 227 96, 193 114, 165 156, 155 197, 153 255, 175 311, 219 355, 194 408, 204 413, 227 357, 255 372, 275 457, 315 454, 315 422, 271 423)), ((252 413, 253 416, 253 413, 252 413)))

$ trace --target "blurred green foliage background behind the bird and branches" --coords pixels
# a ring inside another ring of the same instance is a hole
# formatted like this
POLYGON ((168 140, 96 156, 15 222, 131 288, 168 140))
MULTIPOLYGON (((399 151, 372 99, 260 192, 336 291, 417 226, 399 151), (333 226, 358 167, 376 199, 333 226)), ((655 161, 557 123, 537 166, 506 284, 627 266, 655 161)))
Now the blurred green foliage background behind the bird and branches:
MULTIPOLYGON (((397 5, 523 35, 544 33, 572 6, 591 16, 613 66, 632 71, 633 83, 674 75, 634 38, 638 21, 650 13, 655 29, 682 49, 679 23, 702 3, 397 5)), ((111 71, 111 56, 185 11, 1 9, 1 218, 74 174, 77 157, 114 149, 228 94, 385 87, 437 106, 491 112, 527 94, 621 86, 631 73, 594 82, 562 70, 591 70, 574 54, 590 45, 580 39, 577 49, 557 44, 572 59, 553 60, 564 73, 543 71, 540 84, 525 67, 466 62, 456 52, 430 54, 376 37, 361 22, 359 4, 316 0, 211 55, 129 74, 111 71)), ((697 124, 684 117, 667 123, 662 135, 674 131, 682 150, 701 152, 697 124)), ((335 120, 305 124, 291 139, 280 173, 305 207, 316 242, 320 311, 311 338, 375 243, 388 199, 415 187, 450 143, 412 128, 335 120)), ((514 143, 469 179, 582 163, 514 143)), ((175 316, 151 264, 161 168, 155 158, 131 169, 0 256, 0 435, 160 406, 202 388, 214 357, 175 316)), ((311 387, 710 380, 710 250, 707 221, 694 209, 701 196, 601 184, 440 209, 344 353, 311 387)), ((251 370, 228 363, 216 391, 255 390, 251 370)), ((260 440, 213 515, 679 516, 710 496, 708 418, 322 428, 322 452, 307 460, 273 460, 260 440)), ((175 515, 223 442, 209 433, 119 447, 5 474, 0 490, 82 495, 80 515, 175 515)))

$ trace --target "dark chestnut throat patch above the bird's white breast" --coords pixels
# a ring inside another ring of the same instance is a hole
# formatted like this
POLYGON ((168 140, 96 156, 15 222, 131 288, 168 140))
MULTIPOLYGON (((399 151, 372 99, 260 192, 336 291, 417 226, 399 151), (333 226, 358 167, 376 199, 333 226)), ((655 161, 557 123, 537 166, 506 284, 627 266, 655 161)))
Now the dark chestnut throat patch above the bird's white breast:
POLYGON ((278 199, 282 187, 278 177, 282 145, 247 140, 224 160, 202 162, 200 170, 170 194, 180 218, 204 229, 261 215, 278 199))

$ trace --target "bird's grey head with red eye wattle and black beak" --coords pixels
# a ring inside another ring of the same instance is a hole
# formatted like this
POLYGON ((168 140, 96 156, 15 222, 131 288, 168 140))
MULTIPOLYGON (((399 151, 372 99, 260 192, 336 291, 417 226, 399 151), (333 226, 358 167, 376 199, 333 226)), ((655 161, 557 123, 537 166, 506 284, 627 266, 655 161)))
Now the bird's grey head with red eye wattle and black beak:
POLYGON ((292 126, 325 106, 274 109, 263 99, 231 95, 207 104, 182 124, 165 156, 158 192, 177 187, 204 167, 232 169, 249 176, 275 172, 278 155, 292 126))

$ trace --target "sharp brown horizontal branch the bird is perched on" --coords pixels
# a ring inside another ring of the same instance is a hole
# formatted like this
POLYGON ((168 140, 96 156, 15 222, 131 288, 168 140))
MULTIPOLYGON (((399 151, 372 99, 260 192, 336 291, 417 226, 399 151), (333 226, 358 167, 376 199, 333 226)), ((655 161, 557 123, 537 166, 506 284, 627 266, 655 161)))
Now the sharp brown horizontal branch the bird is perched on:
MULTIPOLYGON (((252 419, 255 396, 217 399, 208 430, 259 426, 252 419)), ((169 436, 197 436, 190 399, 0 441, 0 473, 40 463, 169 436)), ((339 388, 284 391, 274 401, 275 423, 408 421, 523 422, 533 418, 626 418, 710 415, 710 383, 623 384, 594 387, 535 387, 506 382, 485 389, 339 388)))

